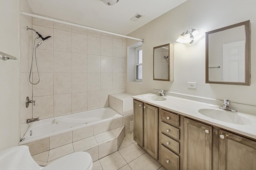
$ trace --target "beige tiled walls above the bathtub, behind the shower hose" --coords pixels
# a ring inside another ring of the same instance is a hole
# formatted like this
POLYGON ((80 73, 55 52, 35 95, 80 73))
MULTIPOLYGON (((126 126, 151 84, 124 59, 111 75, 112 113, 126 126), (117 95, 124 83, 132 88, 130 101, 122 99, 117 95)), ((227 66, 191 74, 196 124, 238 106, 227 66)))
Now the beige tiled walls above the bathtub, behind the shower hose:
MULTIPOLYGON (((32 39, 37 35, 32 35, 22 24, 21 124, 32 117, 45 119, 108 107, 109 94, 125 92, 125 38, 38 18, 28 18, 26 24, 43 36, 52 37, 37 48, 41 81, 32 86, 28 75, 32 39), (36 100, 33 113, 31 105, 24 106, 26 96, 36 100)), ((36 81, 36 67, 33 67, 36 81)), ((21 131, 24 134, 26 128, 21 131)))

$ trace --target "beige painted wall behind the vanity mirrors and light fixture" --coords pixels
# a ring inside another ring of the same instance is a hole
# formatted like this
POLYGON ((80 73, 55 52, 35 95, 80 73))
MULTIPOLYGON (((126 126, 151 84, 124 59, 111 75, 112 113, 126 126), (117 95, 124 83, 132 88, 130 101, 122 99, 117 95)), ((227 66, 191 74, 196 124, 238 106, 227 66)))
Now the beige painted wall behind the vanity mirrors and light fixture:
MULTIPOLYGON (((256 12, 252 0, 188 0, 159 18, 129 34, 144 39, 142 84, 128 82, 126 92, 143 94, 153 88, 202 96, 231 102, 256 105, 256 12), (241 21, 251 20, 251 86, 205 84, 205 37, 194 44, 177 43, 186 29, 210 31, 241 21), (153 81, 153 47, 174 44, 174 82, 153 81), (196 82, 196 89, 187 88, 187 82, 196 82)), ((130 46, 137 41, 127 39, 130 46)))

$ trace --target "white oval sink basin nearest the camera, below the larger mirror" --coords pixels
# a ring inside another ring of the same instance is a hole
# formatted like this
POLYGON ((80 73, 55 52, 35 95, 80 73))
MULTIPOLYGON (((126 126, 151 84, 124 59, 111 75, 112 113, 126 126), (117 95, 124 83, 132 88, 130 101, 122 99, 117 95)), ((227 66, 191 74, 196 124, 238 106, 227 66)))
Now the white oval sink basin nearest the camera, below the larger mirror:
POLYGON ((242 115, 238 115, 237 112, 226 111, 226 110, 216 110, 216 109, 200 109, 198 112, 204 116, 216 119, 219 121, 224 121, 227 123, 233 123, 237 125, 250 125, 252 121, 242 115))

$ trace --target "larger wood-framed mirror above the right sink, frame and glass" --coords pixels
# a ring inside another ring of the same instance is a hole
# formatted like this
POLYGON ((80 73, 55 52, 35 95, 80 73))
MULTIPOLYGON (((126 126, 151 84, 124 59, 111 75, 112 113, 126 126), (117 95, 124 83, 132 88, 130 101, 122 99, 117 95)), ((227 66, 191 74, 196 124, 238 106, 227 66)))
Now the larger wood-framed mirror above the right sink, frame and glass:
POLYGON ((206 32, 206 83, 250 86, 250 20, 206 32))

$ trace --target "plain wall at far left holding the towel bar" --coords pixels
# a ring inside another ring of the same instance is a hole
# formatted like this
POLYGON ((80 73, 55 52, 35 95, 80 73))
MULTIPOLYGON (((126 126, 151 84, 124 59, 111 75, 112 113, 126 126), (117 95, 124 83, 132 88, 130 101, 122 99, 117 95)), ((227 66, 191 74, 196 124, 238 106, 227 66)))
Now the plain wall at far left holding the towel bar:
MULTIPOLYGON (((0 51, 19 58, 19 1, 0 0, 0 4, 0 51)), ((0 150, 2 150, 18 145, 19 141, 19 60, 0 59, 0 69, 0 150)))

